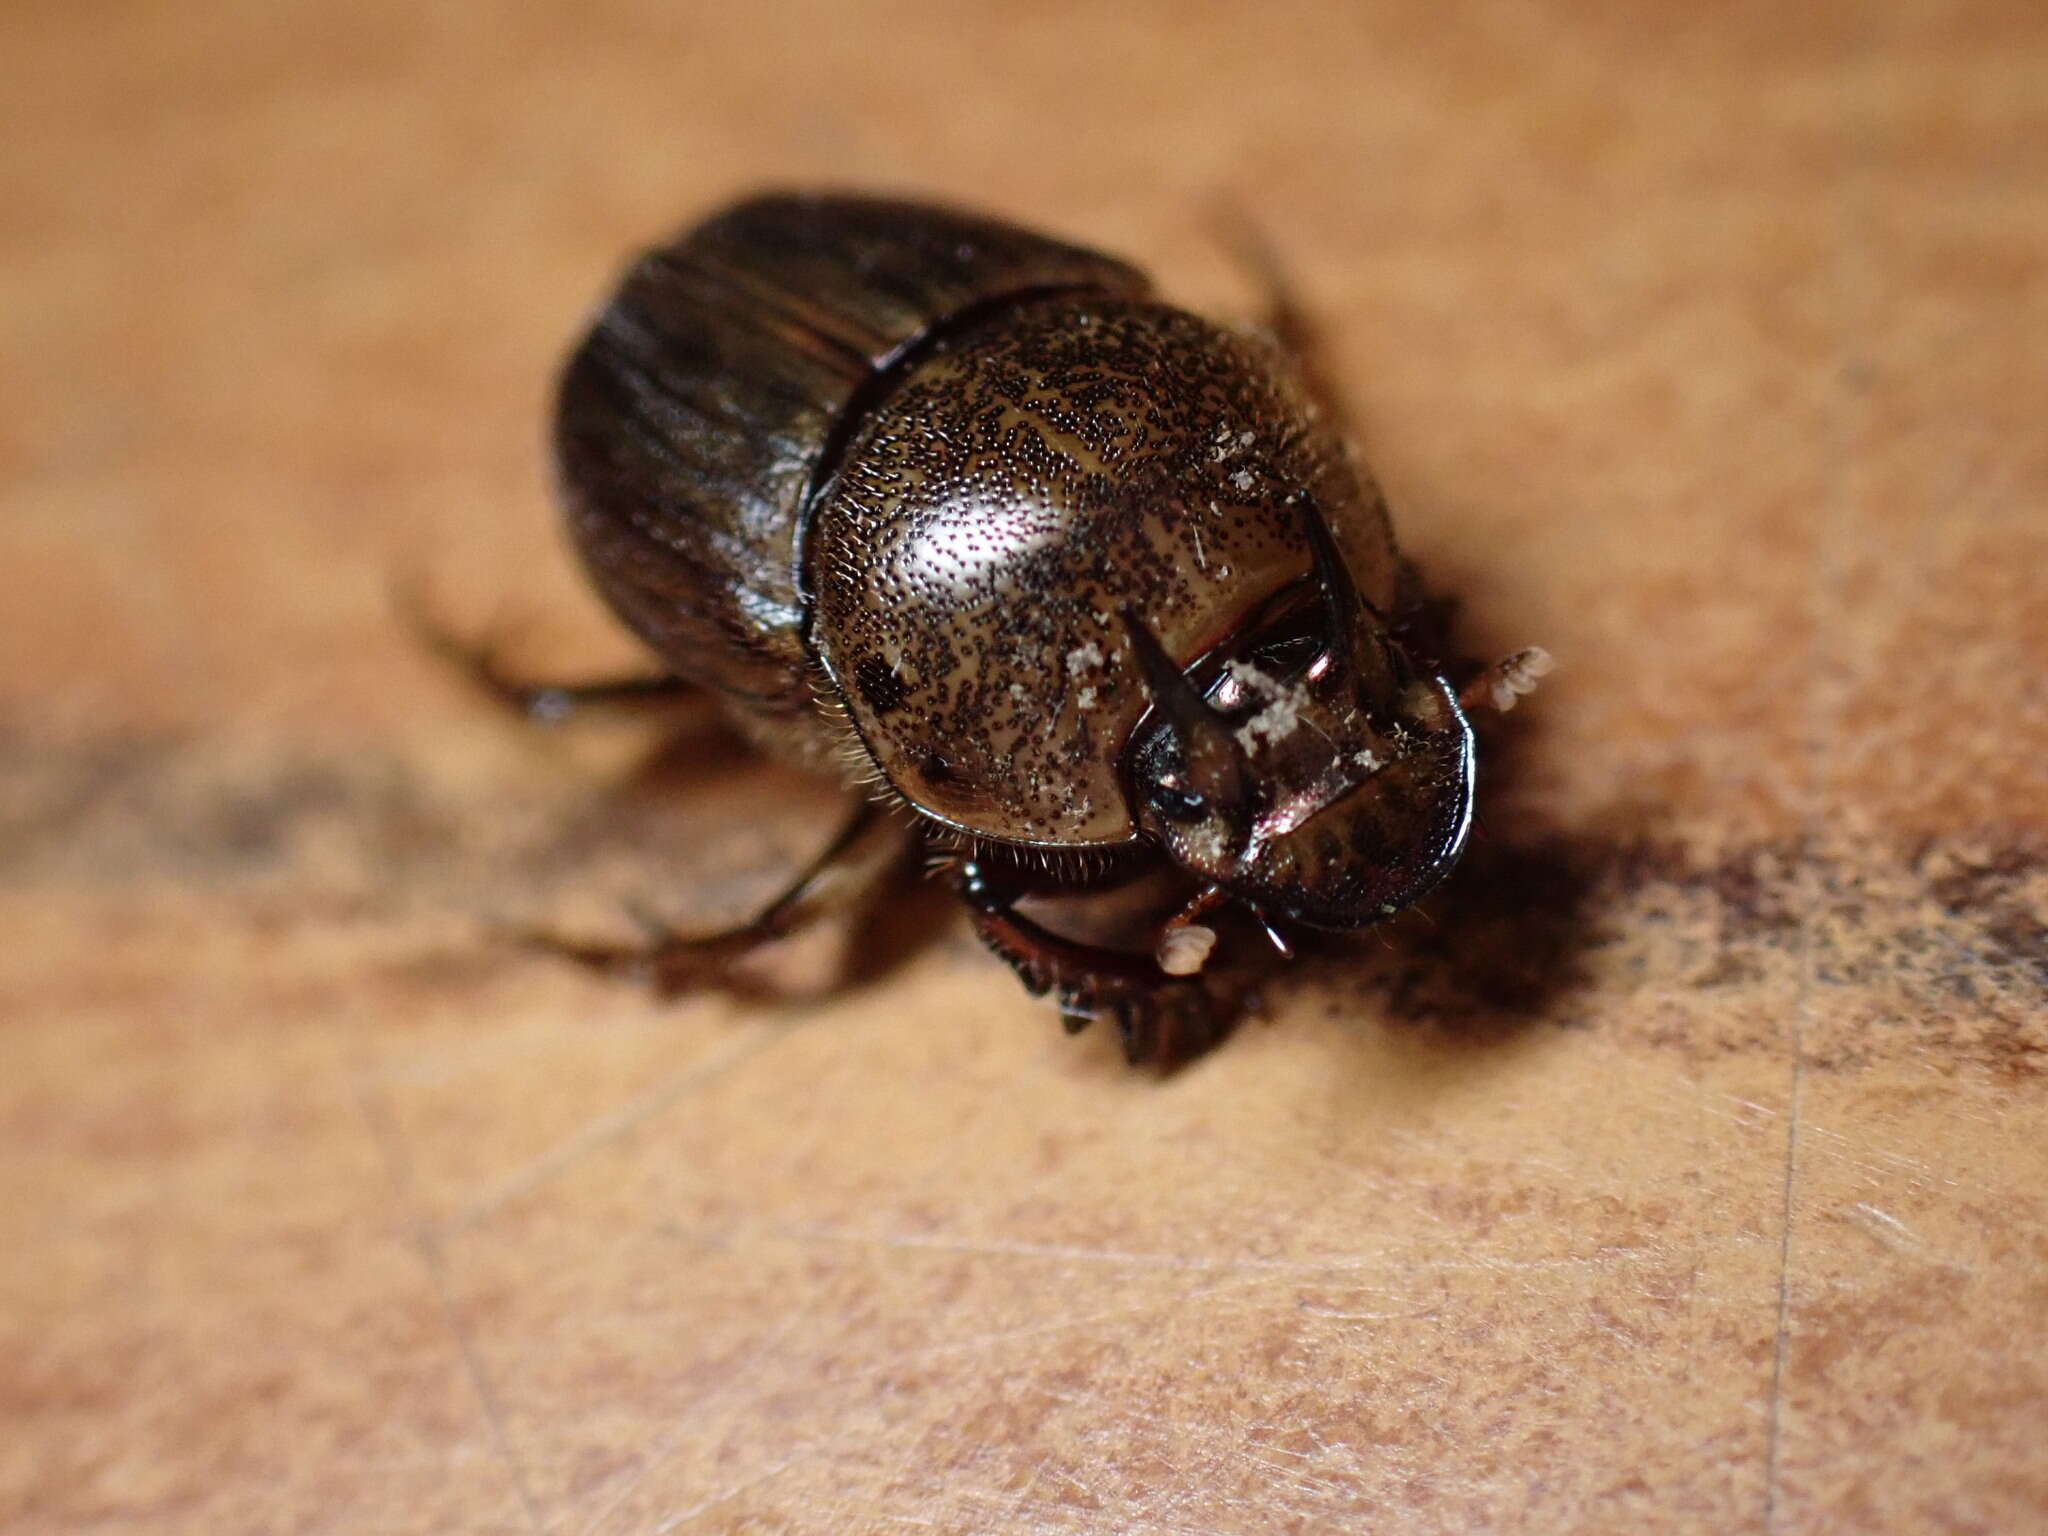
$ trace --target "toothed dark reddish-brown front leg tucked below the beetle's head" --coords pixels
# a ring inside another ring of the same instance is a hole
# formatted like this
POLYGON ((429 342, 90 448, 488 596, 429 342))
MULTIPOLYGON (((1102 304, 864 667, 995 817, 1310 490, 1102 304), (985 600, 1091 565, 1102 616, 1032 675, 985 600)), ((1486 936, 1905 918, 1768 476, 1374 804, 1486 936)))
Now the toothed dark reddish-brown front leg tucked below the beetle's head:
POLYGON ((1200 1055, 1229 1030, 1229 1014, 1194 977, 1174 977, 1151 954, 1130 954, 1055 934, 1016 911, 1016 889, 975 860, 958 870, 958 891, 975 934, 999 954, 1032 997, 1053 993, 1067 1034, 1098 1016, 1116 1022, 1124 1059, 1171 1067, 1200 1055))

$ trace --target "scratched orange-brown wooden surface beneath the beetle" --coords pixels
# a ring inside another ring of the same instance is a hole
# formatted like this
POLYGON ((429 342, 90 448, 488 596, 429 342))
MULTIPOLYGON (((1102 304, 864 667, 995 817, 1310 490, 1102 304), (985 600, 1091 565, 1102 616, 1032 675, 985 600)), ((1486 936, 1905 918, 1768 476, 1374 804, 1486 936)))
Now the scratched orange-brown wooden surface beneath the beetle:
POLYGON ((10 4, 0 1528, 2048 1522, 2040 16, 10 4), (1171 1079, 942 905, 801 1008, 492 938, 829 821, 389 602, 629 659, 549 371, 819 180, 1219 311, 1247 207, 1561 659, 1432 918, 1171 1079))

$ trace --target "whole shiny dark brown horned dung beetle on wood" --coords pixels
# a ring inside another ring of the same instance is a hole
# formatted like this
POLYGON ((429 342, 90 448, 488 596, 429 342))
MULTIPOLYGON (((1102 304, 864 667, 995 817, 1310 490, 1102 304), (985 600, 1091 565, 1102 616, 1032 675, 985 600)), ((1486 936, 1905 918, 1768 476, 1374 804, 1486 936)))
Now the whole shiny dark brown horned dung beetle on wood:
POLYGON ((561 377, 575 549, 666 668, 635 692, 709 690, 858 807, 743 928, 561 948, 717 981, 909 846, 1069 1030, 1110 1016, 1133 1061, 1176 1061, 1235 1001, 1198 918, 1284 950, 1442 881, 1466 705, 1544 657, 1452 688, 1290 330, 872 197, 756 197, 641 256, 561 377), (1161 874, 1139 946, 1057 920, 1161 874))

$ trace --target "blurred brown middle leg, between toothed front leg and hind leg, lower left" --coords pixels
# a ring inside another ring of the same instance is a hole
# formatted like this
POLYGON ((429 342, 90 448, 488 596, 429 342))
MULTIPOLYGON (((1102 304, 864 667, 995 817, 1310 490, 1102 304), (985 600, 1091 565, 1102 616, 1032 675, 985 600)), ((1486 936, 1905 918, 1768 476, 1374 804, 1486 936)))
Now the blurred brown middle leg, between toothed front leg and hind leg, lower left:
POLYGON ((586 944, 559 934, 522 934, 522 942, 592 971, 645 975, 662 997, 731 987, 731 969, 778 938, 852 907, 903 858, 901 821, 862 801, 823 852, 750 922, 717 934, 655 932, 645 944, 586 944))

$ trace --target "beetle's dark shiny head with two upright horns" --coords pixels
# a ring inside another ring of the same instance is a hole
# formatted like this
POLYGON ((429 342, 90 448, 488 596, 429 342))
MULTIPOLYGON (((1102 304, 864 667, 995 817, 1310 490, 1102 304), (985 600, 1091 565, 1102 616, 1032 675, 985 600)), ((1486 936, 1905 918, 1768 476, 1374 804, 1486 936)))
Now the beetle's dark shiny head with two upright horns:
POLYGON ((1262 918, 1364 928, 1456 864, 1473 733, 1366 602, 1298 500, 1313 582, 1208 678, 1122 610, 1153 709, 1126 758, 1139 825, 1184 870, 1262 918))

